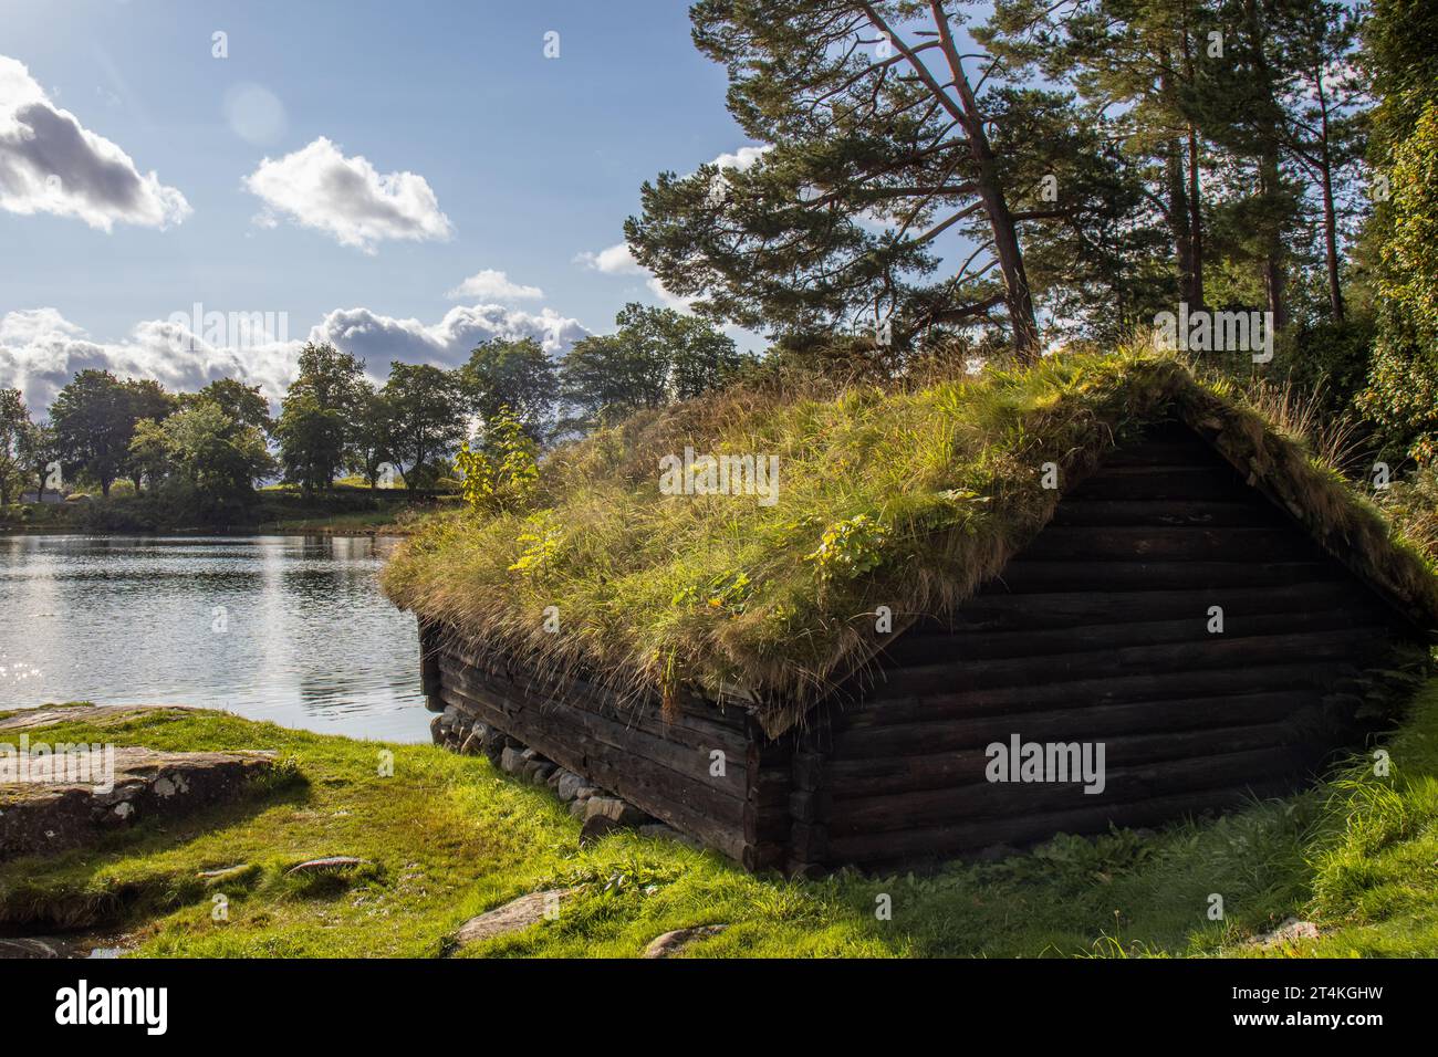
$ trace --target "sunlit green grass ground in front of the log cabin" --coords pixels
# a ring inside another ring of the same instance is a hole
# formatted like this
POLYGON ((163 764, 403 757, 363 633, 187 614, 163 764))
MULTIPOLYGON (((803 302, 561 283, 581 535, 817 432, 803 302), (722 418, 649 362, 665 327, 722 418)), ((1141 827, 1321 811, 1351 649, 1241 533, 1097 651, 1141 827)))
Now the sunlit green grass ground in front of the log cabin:
POLYGON ((923 877, 754 877, 715 853, 578 824, 545 790, 483 758, 358 742, 213 712, 70 723, 32 741, 161 749, 278 749, 249 800, 99 850, 0 866, 0 928, 112 938, 138 955, 437 956, 467 918, 580 886, 557 920, 464 955, 633 956, 661 932, 731 928, 710 956, 1438 955, 1438 680, 1382 743, 1391 777, 1357 762, 1303 795, 1158 834, 1060 837, 1001 863, 923 877), (381 777, 381 751, 394 775, 381 777), (301 882, 318 856, 372 866, 301 882), (207 886, 196 874, 247 864, 207 886), (1209 920, 1211 896, 1224 919, 1209 920), (214 897, 229 916, 216 920, 214 897), (887 900, 883 897, 887 896, 887 900), (883 919, 881 903, 892 905, 883 919), (1296 915, 1316 941, 1260 949, 1296 915))

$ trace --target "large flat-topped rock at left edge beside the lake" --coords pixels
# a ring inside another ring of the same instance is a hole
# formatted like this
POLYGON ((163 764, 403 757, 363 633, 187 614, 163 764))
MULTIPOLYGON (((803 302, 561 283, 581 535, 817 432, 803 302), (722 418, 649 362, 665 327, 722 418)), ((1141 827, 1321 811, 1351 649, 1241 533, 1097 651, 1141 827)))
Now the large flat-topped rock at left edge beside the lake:
POLYGON ((86 847, 142 818, 183 818, 236 800, 253 778, 273 769, 275 754, 122 746, 6 761, 0 768, 0 861, 86 847))

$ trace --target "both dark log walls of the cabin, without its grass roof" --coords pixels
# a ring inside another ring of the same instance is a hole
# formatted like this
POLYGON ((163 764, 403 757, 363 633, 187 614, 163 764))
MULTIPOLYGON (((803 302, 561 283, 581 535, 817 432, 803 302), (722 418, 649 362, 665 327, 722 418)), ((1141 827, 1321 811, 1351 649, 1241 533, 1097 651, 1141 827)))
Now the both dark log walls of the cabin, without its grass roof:
POLYGON ((1438 616, 1375 574, 1385 555, 1237 469, 1215 429, 1173 417, 1109 452, 999 575, 896 621, 781 729, 742 700, 620 700, 421 616, 430 708, 754 870, 933 863, 1284 794, 1356 743, 1375 669, 1438 616), (1060 762, 1102 745, 1102 790, 1024 781, 995 762, 1015 742, 1060 762))

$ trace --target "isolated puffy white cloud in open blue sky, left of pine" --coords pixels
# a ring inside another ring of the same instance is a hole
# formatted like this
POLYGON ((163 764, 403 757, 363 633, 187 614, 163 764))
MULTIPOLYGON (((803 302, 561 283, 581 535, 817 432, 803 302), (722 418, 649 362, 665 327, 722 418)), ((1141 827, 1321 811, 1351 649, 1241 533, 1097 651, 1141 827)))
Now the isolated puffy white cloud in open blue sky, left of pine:
POLYGON ((283 214, 365 253, 385 239, 443 242, 453 234, 424 177, 381 174, 362 155, 347 158, 325 137, 283 158, 265 158, 244 187, 265 201, 263 226, 283 214))

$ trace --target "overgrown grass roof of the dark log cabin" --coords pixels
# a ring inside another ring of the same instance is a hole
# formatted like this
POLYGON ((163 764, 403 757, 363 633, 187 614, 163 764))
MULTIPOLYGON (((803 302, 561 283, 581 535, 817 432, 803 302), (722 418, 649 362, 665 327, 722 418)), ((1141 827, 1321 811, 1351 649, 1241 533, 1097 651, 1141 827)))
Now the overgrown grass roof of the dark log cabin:
POLYGON ((1386 580, 1438 613, 1428 569, 1391 561, 1386 523, 1336 475, 1231 388, 1135 351, 899 391, 741 388, 641 414, 557 452, 535 512, 440 519, 383 582, 426 620, 541 669, 749 696, 774 731, 873 651, 879 605, 899 628, 999 572, 1057 503, 1044 463, 1074 480, 1175 400, 1224 429, 1238 465, 1287 475, 1286 500, 1340 546, 1356 534, 1386 580), (778 502, 661 495, 660 459, 686 447, 778 456, 778 502))

